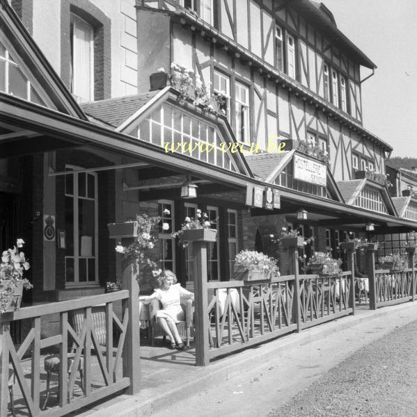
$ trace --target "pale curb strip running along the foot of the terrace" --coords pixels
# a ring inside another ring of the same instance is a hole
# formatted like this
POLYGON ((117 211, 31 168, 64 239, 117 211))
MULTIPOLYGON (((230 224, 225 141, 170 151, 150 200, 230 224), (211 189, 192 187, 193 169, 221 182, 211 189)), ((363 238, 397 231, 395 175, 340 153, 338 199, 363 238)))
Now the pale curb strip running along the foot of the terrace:
POLYGON ((122 395, 120 400, 109 405, 104 409, 91 409, 88 417, 148 417, 165 407, 169 407, 173 402, 183 400, 190 395, 195 395, 207 389, 207 386, 222 384, 228 379, 245 372, 249 366, 256 367, 265 363, 268 359, 285 352, 292 347, 306 345, 320 338, 329 336, 345 329, 359 325, 365 321, 374 320, 388 314, 398 313, 400 311, 409 311, 415 309, 415 317, 410 315, 409 322, 417 320, 417 309, 414 303, 404 303, 389 308, 379 310, 363 311, 356 316, 347 316, 338 318, 331 322, 325 322, 322 325, 310 327, 300 333, 292 333, 262 345, 251 347, 248 350, 239 352, 218 361, 210 363, 205 368, 190 368, 190 377, 185 380, 175 380, 168 387, 166 384, 157 389, 143 389, 140 393, 130 397, 122 395), (260 363, 261 362, 261 363, 260 363), (168 389, 167 389, 168 388, 168 389), (93 411, 93 412, 91 412, 93 411))

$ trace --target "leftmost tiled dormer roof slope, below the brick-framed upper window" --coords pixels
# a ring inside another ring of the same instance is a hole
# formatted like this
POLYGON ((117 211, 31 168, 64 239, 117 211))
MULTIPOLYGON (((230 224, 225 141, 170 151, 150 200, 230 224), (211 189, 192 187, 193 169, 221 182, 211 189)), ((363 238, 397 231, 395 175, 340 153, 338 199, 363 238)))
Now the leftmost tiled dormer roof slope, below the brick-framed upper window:
POLYGON ((95 120, 109 124, 114 128, 120 126, 127 118, 144 106, 159 91, 150 91, 141 95, 131 95, 93 101, 92 103, 82 104, 84 113, 94 117, 95 120))

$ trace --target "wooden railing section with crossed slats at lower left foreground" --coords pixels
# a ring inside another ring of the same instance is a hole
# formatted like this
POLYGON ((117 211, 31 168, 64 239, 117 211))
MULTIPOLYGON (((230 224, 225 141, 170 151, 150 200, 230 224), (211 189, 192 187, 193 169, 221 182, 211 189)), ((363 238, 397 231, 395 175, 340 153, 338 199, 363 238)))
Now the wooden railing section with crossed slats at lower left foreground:
POLYGON ((129 345, 128 339, 132 339, 131 336, 127 338, 131 331, 129 316, 129 291, 126 290, 77 300, 30 306, 2 314, 0 316, 0 416, 7 415, 8 372, 11 366, 13 366, 30 416, 62 416, 127 389, 132 383, 132 375, 127 372, 127 362, 132 360, 127 355, 132 351, 132 347, 127 346, 129 345), (113 303, 116 301, 122 304, 120 319, 113 309, 113 303), (105 352, 100 349, 95 331, 95 320, 92 316, 93 306, 97 306, 97 304, 102 304, 101 308, 105 312, 105 343, 102 343, 105 345, 105 352), (79 334, 69 320, 69 316, 76 310, 82 316, 79 334), (41 338, 41 320, 50 314, 58 315, 59 332, 54 336, 41 338), (15 348, 10 336, 10 323, 15 320, 29 320, 31 322, 29 334, 18 349, 15 348), (118 334, 114 344, 115 348, 113 348, 113 327, 117 329, 114 334, 118 334), (40 392, 41 350, 52 346, 59 348, 59 404, 43 411, 40 409, 45 397, 45 393, 40 392), (72 360, 68 361, 68 352, 71 347, 74 347, 74 352, 72 360), (126 348, 124 349, 124 347, 126 348), (101 370, 102 384, 97 383, 95 378, 92 381, 92 348, 97 352, 96 357, 101 370), (27 370, 26 373, 24 372, 21 364, 22 357, 28 351, 31 351, 29 375, 27 370), (116 369, 120 368, 121 361, 124 364, 123 375, 116 373, 116 369), (84 372, 80 373, 82 381, 77 384, 82 386, 82 393, 77 390, 77 395, 74 394, 72 397, 76 377, 79 375, 77 370, 79 370, 80 363, 83 363, 81 370, 84 372), (68 364, 70 364, 69 369, 68 364))

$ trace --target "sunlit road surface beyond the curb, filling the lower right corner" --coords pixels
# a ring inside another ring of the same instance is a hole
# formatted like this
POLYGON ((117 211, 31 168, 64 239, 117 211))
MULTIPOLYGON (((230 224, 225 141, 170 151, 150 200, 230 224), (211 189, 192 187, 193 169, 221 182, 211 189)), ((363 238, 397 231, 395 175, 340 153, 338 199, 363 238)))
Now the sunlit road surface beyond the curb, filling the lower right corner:
POLYGON ((417 416, 417 322, 409 322, 400 311, 361 322, 152 416, 417 416))

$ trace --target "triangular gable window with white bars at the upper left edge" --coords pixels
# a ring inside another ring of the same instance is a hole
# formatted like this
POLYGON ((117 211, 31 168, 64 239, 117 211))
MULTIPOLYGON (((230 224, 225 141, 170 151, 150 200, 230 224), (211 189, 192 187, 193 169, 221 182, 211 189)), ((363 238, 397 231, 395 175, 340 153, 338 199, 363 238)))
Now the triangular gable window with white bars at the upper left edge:
POLYGON ((45 106, 22 67, 10 56, 8 49, 0 42, 0 91, 45 106))

